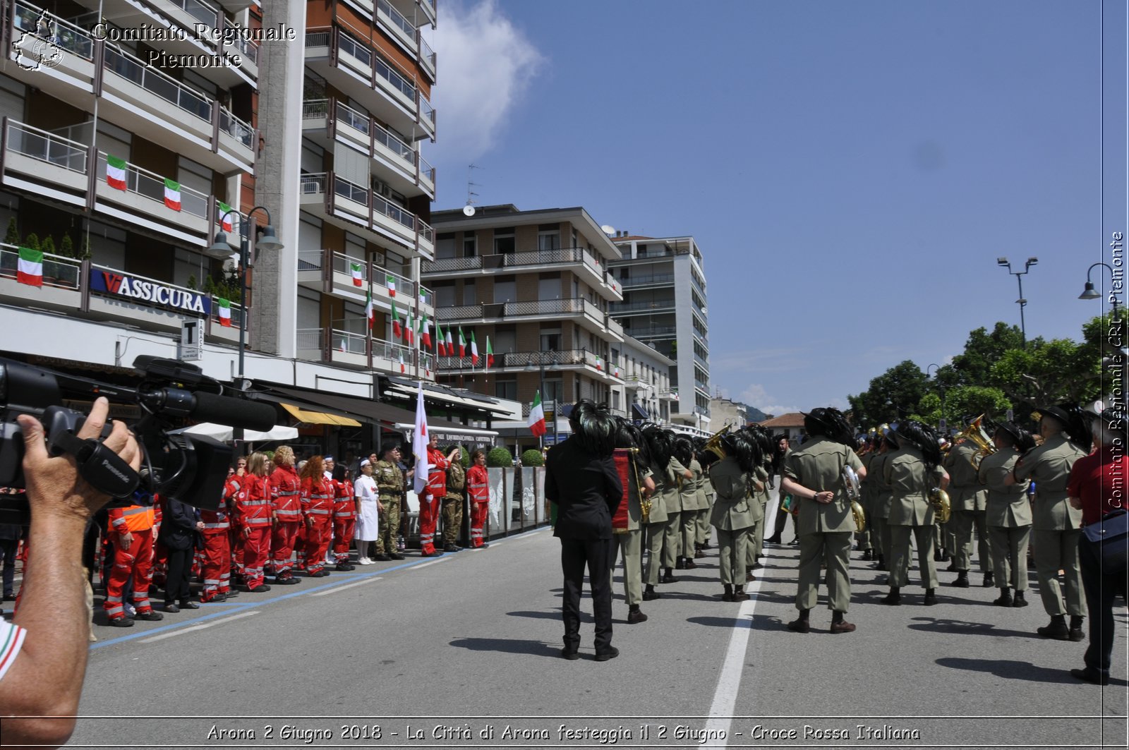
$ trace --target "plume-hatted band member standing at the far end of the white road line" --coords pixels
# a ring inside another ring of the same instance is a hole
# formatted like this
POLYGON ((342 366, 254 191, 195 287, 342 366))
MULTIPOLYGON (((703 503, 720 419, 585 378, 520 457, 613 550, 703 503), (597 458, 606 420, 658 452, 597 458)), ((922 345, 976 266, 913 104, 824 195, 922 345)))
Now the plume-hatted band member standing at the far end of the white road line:
POLYGON ((761 456, 756 444, 739 430, 721 436, 721 450, 725 457, 709 469, 715 491, 710 523, 717 529, 721 601, 739 602, 749 599, 745 577, 750 532, 764 520, 764 511, 753 497, 763 485, 755 478, 761 456))

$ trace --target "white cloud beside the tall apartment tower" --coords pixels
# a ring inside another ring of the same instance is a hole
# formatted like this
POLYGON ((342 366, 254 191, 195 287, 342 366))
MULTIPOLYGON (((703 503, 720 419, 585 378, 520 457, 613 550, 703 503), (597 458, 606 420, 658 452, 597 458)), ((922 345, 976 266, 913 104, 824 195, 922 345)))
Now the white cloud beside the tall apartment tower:
POLYGON ((439 68, 434 160, 469 164, 497 142, 544 59, 495 0, 444 2, 432 46, 439 68))

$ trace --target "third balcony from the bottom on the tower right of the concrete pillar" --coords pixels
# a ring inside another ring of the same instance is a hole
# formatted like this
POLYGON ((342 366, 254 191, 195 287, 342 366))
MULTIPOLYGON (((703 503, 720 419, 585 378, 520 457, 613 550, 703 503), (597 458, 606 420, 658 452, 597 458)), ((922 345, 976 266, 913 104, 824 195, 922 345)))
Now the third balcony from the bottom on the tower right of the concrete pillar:
POLYGON ((376 242, 392 241, 428 260, 435 253, 435 230, 430 225, 383 195, 332 172, 301 175, 300 202, 303 209, 332 224, 368 229, 376 242))

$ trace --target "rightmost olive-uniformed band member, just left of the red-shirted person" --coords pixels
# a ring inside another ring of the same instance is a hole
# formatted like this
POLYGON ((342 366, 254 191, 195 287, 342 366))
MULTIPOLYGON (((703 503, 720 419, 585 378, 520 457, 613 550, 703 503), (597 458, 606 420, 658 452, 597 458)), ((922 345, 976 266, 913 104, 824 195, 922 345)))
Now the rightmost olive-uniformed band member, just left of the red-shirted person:
POLYGON ((1078 565, 1082 511, 1067 502, 1066 488, 1074 462, 1089 452, 1092 438, 1082 410, 1070 403, 1043 409, 1039 433, 1043 444, 1021 456, 1007 480, 1035 482, 1031 537, 1035 547, 1039 592, 1043 609, 1051 616, 1050 623, 1038 633, 1057 640, 1085 640, 1086 602, 1078 565), (1059 570, 1065 572, 1065 605, 1059 570), (1067 614, 1070 616, 1069 628, 1067 614))

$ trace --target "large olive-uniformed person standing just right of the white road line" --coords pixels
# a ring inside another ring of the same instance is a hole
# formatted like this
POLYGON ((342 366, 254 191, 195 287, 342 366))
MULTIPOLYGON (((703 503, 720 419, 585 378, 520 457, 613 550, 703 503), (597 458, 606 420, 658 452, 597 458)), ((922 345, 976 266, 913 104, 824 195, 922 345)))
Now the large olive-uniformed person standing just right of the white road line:
POLYGON ((860 477, 866 469, 855 455, 855 431, 838 409, 813 409, 804 416, 808 441, 793 451, 785 464, 780 488, 799 500, 796 530, 799 533, 799 585, 796 609, 799 617, 788 629, 807 633, 808 614, 819 598, 821 565, 828 566, 828 608, 832 611, 831 633, 852 633, 843 616, 850 607, 850 547, 855 532, 851 505, 843 487, 843 466, 860 477))

